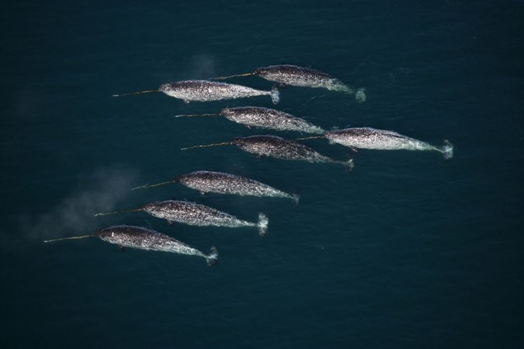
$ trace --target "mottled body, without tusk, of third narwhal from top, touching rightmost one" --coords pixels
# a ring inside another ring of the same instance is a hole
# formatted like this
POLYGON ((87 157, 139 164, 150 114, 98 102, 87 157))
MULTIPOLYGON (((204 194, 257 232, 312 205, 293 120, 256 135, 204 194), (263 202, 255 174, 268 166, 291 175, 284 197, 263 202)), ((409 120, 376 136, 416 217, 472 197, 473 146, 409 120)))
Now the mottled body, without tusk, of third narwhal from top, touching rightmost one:
POLYGON ((314 126, 300 117, 266 107, 224 108, 220 115, 247 127, 270 128, 277 131, 299 131, 306 133, 324 133, 319 126, 314 126))

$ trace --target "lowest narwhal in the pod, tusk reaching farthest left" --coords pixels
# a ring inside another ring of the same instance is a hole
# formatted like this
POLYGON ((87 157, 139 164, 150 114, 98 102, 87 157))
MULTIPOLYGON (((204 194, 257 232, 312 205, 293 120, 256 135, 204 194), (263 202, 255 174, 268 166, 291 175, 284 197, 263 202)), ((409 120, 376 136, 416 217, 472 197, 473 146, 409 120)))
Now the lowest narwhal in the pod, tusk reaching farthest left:
POLYGON ((118 245, 121 250, 124 248, 139 248, 141 250, 163 251, 179 253, 181 255, 197 255, 205 258, 208 265, 214 265, 217 262, 218 251, 212 246, 211 253, 206 255, 196 248, 192 248, 173 237, 163 235, 154 230, 133 227, 131 225, 116 225, 110 228, 96 230, 92 235, 83 235, 80 237, 64 237, 62 239, 45 240, 44 242, 55 242, 59 240, 84 239, 85 237, 98 237, 110 244, 118 245))

